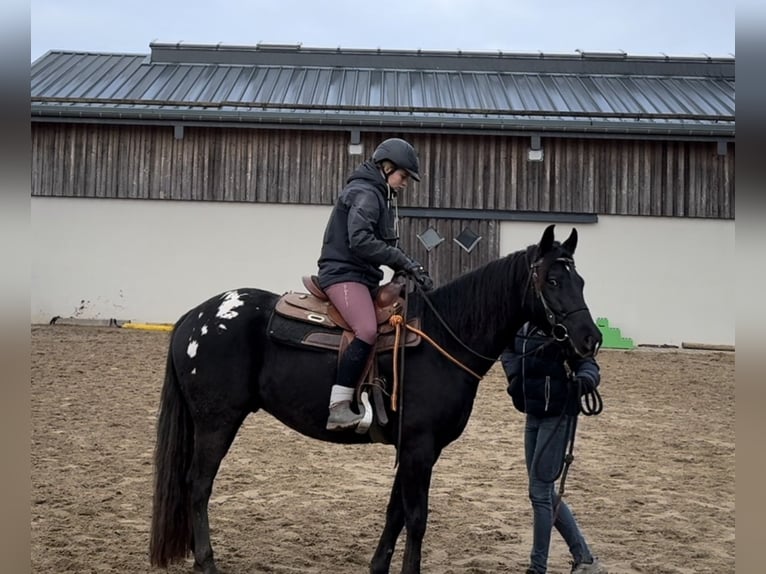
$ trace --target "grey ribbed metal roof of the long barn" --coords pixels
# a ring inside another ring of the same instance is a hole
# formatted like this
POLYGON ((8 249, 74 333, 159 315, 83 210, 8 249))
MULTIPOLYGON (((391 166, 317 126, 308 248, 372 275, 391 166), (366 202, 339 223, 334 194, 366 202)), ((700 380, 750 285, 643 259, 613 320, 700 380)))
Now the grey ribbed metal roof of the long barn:
POLYGON ((51 51, 32 119, 734 137, 734 58, 152 43, 51 51))

